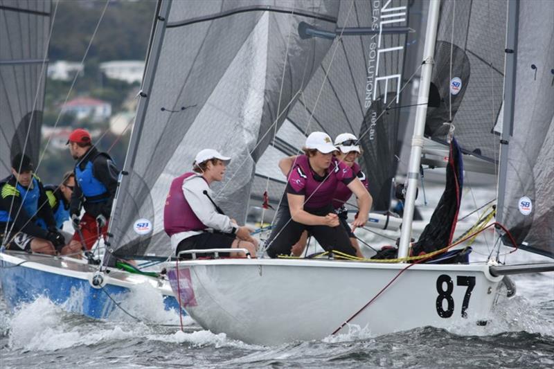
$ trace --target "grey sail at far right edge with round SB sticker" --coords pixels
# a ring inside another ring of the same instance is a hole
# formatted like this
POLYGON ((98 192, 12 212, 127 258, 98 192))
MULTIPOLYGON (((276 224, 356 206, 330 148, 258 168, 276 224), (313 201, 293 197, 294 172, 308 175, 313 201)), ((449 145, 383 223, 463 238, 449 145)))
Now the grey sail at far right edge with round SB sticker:
MULTIPOLYGON (((499 211, 521 249, 554 258, 554 2, 521 5, 513 132, 499 211)), ((512 246, 506 236, 503 242, 512 246)))

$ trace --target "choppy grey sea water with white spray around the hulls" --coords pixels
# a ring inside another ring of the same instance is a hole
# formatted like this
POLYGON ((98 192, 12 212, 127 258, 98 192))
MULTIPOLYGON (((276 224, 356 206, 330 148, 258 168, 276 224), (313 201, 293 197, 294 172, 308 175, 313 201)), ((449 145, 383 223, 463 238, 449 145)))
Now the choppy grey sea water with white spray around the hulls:
MULTIPOLYGON (((438 199, 440 192, 428 196, 438 199)), ((476 204, 490 196, 490 192, 476 195, 476 204)), ((376 244, 375 237, 366 238, 376 244)), ((472 260, 487 260, 491 246, 484 238, 473 245, 472 260)), ((551 261, 525 251, 501 255, 501 260, 505 258, 512 264, 551 261)), ((516 296, 497 305, 485 327, 467 322, 446 330, 422 327, 373 336, 366 327, 351 325, 345 334, 277 346, 249 345, 213 334, 186 316, 181 330, 177 312, 163 310, 161 296, 148 287, 133 291, 121 304, 125 312, 116 309, 104 321, 69 314, 45 298, 10 312, 0 299, 0 366, 554 368, 554 273, 512 279, 516 296)), ((77 303, 80 296, 73 298, 67 304, 77 303)), ((265 318, 264 312, 253 318, 265 318)))

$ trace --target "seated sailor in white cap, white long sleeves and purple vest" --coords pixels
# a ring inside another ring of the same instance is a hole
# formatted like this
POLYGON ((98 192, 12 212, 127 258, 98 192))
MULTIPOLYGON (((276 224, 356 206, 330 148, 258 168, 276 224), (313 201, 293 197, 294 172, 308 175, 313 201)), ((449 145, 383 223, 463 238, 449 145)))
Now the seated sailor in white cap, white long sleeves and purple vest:
MULTIPOLYGON (((176 255, 192 249, 247 249, 253 257, 258 242, 251 228, 238 226, 213 201, 211 183, 222 181, 231 158, 213 149, 200 151, 193 172, 174 179, 163 209, 163 228, 176 255)), ((244 252, 229 253, 244 258, 244 252)), ((224 254, 220 254, 224 255, 224 254)), ((190 256, 185 256, 190 258, 190 256)))

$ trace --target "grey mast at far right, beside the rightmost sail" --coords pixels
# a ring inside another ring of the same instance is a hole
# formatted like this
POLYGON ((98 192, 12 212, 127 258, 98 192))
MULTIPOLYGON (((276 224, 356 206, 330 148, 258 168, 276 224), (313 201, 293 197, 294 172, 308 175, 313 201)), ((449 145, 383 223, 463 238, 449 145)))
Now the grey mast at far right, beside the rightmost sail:
POLYGON ((506 64, 504 78, 504 115, 500 134, 500 164, 497 186, 497 222, 502 223, 506 172, 508 171, 508 144, 514 129, 515 73, 517 69, 517 27, 519 0, 508 1, 508 21, 506 22, 506 64))

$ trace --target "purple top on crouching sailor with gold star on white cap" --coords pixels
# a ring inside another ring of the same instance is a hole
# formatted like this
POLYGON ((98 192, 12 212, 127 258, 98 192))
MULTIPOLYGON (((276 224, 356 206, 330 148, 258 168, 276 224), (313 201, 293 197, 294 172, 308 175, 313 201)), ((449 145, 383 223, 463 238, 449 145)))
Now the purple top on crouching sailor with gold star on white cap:
POLYGON ((339 183, 345 186, 355 179, 352 169, 345 163, 332 158, 329 168, 323 176, 319 176, 310 167, 307 156, 296 158, 287 183, 287 193, 304 195, 304 208, 318 209, 332 203, 334 192, 339 183))

